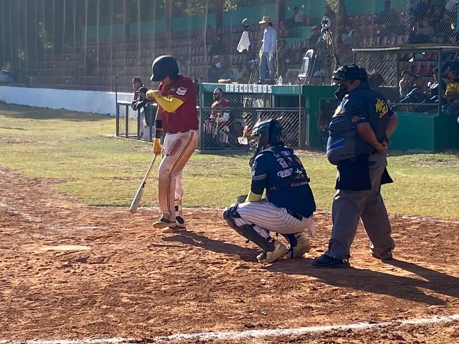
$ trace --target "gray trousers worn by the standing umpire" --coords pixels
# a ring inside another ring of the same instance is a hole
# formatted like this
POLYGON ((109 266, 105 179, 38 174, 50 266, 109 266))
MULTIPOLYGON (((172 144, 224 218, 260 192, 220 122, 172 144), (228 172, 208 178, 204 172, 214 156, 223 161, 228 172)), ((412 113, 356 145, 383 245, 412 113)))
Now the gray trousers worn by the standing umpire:
POLYGON ((381 175, 386 166, 386 154, 370 155, 371 190, 337 190, 332 205, 333 229, 326 255, 349 259, 349 249, 357 232, 359 218, 362 219, 375 255, 382 255, 395 247, 386 206, 381 197, 381 175))

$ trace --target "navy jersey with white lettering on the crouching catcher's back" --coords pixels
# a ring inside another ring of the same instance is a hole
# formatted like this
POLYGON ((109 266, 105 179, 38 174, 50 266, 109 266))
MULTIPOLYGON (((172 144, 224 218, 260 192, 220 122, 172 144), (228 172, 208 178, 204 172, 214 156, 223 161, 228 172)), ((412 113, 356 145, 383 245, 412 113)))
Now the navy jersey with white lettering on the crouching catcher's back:
POLYGON ((279 208, 309 217, 316 209, 309 178, 293 150, 274 146, 263 150, 252 165, 254 194, 263 194, 279 208))

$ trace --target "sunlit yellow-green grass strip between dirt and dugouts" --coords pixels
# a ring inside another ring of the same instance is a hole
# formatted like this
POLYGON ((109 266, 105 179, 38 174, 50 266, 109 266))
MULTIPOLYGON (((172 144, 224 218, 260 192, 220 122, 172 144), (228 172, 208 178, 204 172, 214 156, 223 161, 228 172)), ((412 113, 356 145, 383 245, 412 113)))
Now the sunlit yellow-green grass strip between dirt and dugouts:
MULTIPOLYGON (((65 110, 0 104, 0 166, 27 177, 55 178, 56 190, 90 205, 128 206, 151 161, 148 144, 111 139, 112 118, 65 110)), ((300 152, 319 209, 330 209, 336 168, 300 152)), ((194 154, 184 171, 186 206, 224 206, 250 186, 248 156, 194 154)), ((395 183, 382 188, 392 214, 459 217, 459 157, 389 157, 395 183)), ((157 205, 156 173, 144 205, 157 205)))

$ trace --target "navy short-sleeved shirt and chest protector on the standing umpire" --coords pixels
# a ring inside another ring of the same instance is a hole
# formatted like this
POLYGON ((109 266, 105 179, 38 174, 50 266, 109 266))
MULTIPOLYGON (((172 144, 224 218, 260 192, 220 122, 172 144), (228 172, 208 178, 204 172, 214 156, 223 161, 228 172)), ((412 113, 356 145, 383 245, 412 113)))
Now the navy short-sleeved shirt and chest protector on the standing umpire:
POLYGON ((389 118, 394 115, 384 96, 368 83, 361 83, 351 93, 346 94, 336 108, 327 142, 327 157, 330 163, 338 165, 341 160, 361 154, 373 154, 375 149, 357 131, 360 123, 367 122, 376 139, 382 143, 389 118))

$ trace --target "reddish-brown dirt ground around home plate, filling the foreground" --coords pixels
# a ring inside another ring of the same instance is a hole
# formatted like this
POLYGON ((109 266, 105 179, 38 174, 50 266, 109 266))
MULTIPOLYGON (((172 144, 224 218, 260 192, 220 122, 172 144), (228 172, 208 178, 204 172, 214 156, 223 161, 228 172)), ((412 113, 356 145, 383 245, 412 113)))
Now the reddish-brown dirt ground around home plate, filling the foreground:
MULTIPOLYGON (((372 258, 359 228, 352 268, 318 270, 309 261, 331 229, 330 215, 319 212, 306 258, 263 265, 221 211, 187 210, 188 232, 162 234, 151 227, 157 210, 89 207, 51 182, 0 169, 0 341, 151 342, 145 338, 459 313, 459 222, 392 216, 397 260, 372 258), (56 245, 90 250, 49 250, 56 245)), ((459 343, 459 322, 185 342, 450 344, 459 343)))

